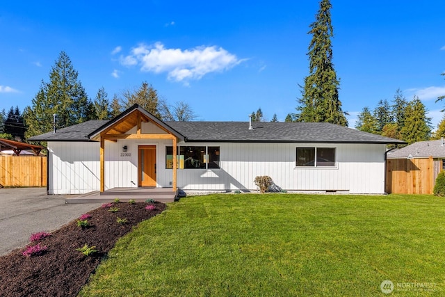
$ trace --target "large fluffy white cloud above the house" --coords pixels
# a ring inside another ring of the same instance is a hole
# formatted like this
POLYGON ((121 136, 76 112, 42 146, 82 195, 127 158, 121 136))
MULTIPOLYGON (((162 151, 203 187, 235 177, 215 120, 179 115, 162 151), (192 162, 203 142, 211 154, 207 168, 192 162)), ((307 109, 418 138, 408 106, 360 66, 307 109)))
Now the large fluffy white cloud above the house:
POLYGON ((139 65, 144 72, 166 72, 168 79, 188 83, 211 72, 222 72, 245 60, 238 59, 222 47, 195 47, 193 49, 165 49, 161 42, 139 45, 128 56, 121 57, 122 65, 139 65))

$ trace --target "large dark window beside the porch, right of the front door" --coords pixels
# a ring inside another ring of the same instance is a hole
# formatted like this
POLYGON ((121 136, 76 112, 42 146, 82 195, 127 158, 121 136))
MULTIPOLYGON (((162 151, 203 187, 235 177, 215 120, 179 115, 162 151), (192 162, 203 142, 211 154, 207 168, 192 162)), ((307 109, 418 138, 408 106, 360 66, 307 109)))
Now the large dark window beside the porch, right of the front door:
MULTIPOLYGON (((173 147, 165 147, 165 169, 173 168, 173 147)), ((178 169, 220 168, 220 147, 181 146, 177 150, 178 169)))

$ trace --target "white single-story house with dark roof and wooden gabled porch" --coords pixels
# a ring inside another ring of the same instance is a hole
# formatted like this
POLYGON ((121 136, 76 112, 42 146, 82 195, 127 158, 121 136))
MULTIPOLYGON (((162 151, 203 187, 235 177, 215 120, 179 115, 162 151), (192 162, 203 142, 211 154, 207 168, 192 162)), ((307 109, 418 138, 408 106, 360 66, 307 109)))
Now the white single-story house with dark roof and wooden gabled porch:
POLYGON ((138 105, 29 140, 47 141, 49 194, 254 191, 259 175, 286 191, 382 194, 386 147, 404 143, 329 123, 163 122, 138 105))

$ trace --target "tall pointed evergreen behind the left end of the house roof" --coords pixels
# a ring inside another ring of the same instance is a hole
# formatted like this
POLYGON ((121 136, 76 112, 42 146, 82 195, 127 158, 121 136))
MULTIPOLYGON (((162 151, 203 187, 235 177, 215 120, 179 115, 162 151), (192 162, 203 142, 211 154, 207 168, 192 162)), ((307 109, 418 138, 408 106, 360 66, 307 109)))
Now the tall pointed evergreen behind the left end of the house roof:
POLYGON ((53 114, 56 114, 56 127, 59 128, 88 120, 90 104, 78 76, 70 58, 65 51, 61 51, 49 72, 49 83, 42 80, 32 105, 24 111, 29 127, 26 137, 51 131, 53 114))

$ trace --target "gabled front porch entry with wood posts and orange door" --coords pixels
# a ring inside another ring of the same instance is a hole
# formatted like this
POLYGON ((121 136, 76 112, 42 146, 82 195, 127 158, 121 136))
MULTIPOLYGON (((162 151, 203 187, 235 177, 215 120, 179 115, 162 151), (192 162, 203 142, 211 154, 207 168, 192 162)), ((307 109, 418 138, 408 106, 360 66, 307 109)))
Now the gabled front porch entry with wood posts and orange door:
POLYGON ((177 193, 177 162, 172 162, 170 176, 166 177, 163 157, 165 146, 170 146, 172 160, 177 159, 177 143, 184 136, 137 104, 88 138, 100 143, 98 177, 102 195, 113 193, 114 188, 127 188, 131 195, 138 195, 144 188, 177 193))

